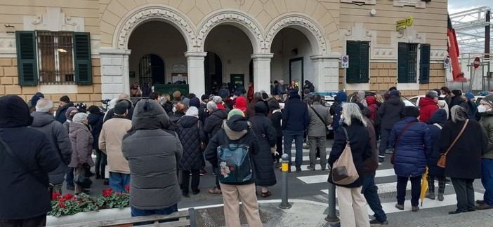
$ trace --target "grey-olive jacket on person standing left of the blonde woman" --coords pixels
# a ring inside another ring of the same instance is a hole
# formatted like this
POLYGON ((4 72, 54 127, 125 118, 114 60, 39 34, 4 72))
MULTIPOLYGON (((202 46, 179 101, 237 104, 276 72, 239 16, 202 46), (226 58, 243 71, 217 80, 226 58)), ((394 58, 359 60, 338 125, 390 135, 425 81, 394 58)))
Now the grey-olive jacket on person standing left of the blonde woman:
POLYGON ((310 116, 310 124, 308 125, 308 136, 309 137, 325 137, 327 125, 332 123, 332 117, 329 113, 329 108, 322 106, 320 102, 313 102, 313 106, 308 109, 308 114, 310 116), (322 120, 315 114, 322 118, 322 120))

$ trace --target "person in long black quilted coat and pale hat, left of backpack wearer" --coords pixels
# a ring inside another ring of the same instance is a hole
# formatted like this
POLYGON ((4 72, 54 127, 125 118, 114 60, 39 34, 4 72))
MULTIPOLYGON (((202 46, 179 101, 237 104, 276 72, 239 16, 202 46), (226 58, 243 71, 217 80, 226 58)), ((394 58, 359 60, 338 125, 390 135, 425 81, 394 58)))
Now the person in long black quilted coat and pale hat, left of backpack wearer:
POLYGON ((183 156, 178 163, 178 170, 182 171, 182 188, 181 194, 185 197, 188 195, 188 184, 190 172, 192 172, 192 194, 200 192, 200 170, 202 170, 202 151, 200 151, 200 142, 207 142, 204 133, 204 126, 199 121, 199 111, 197 107, 191 106, 185 116, 178 121, 178 137, 183 146, 183 156))

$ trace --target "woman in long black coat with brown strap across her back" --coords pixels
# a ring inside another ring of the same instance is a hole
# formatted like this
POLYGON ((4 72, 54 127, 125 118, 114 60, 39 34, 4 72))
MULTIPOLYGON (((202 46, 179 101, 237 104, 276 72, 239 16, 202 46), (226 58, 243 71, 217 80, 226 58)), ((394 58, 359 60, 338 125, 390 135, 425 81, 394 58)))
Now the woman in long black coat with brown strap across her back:
POLYGON ((475 210, 473 182, 481 178, 481 156, 487 151, 488 141, 478 121, 466 121, 466 109, 456 105, 450 109, 450 116, 452 121, 443 125, 440 135, 442 153, 447 152, 467 122, 461 137, 447 153, 444 172, 445 177, 450 177, 457 198, 457 209, 449 214, 459 214, 475 210))

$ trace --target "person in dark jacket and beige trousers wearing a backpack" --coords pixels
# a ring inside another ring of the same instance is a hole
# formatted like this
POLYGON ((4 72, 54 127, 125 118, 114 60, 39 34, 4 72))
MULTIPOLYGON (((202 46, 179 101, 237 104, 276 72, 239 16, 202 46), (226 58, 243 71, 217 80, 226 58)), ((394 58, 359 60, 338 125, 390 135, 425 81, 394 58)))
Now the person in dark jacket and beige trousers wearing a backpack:
MULTIPOLYGON (((206 160, 213 167, 218 168, 218 146, 226 144, 244 144, 248 146, 251 156, 256 156, 260 147, 251 123, 244 118, 243 112, 239 109, 232 109, 228 114, 228 120, 223 121, 221 130, 212 137, 204 151, 206 160)), ((249 160, 250 166, 254 166, 252 158, 249 160)), ((227 170, 221 170, 221 174, 227 174, 227 170)), ((254 171, 254 169, 252 169, 254 171)), ((239 198, 243 203, 243 210, 247 216, 250 227, 262 226, 260 214, 258 213, 258 202, 255 194, 255 174, 251 178, 242 182, 221 182, 223 193, 224 217, 226 226, 241 226, 239 222, 239 198)))

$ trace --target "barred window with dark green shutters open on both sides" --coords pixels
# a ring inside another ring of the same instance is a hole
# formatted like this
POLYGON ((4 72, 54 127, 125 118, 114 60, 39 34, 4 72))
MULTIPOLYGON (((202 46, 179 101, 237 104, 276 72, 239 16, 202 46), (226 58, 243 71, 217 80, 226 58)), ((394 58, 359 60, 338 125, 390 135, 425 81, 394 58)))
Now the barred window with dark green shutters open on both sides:
POLYGON ((87 32, 17 31, 19 85, 91 85, 87 32))

